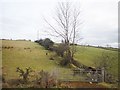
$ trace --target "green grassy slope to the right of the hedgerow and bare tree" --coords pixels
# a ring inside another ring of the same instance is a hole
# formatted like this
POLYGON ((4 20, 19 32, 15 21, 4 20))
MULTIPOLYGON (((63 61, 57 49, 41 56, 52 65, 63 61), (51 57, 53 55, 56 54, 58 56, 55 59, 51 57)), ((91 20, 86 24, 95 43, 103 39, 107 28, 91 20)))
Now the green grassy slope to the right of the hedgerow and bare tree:
POLYGON ((110 65, 111 69, 109 71, 112 72, 112 74, 117 77, 118 75, 118 52, 117 51, 105 50, 105 49, 94 48, 94 47, 78 46, 77 53, 75 54, 75 58, 76 60, 78 60, 79 62, 87 66, 95 67, 96 64, 94 62, 98 62, 100 60, 99 57, 103 52, 106 52, 110 58, 114 57, 114 59, 111 59, 112 61, 109 61, 109 63, 111 64, 110 65))

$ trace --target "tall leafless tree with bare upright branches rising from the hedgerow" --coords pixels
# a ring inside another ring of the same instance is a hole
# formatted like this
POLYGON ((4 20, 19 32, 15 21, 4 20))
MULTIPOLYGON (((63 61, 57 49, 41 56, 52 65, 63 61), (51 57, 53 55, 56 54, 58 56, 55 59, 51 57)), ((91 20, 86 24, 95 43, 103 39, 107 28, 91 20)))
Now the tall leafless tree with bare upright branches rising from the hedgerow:
MULTIPOLYGON (((67 63, 72 63, 74 60, 75 53, 75 43, 79 40, 79 30, 80 30, 80 10, 72 5, 70 2, 60 2, 56 8, 56 17, 54 20, 57 26, 51 25, 47 20, 47 24, 50 29, 56 33, 57 37, 62 37, 66 45, 66 59, 67 63), (70 43, 72 46, 70 47, 70 43)), ((52 35, 52 34, 50 34, 52 35)), ((55 36, 55 35, 53 35, 55 36)))

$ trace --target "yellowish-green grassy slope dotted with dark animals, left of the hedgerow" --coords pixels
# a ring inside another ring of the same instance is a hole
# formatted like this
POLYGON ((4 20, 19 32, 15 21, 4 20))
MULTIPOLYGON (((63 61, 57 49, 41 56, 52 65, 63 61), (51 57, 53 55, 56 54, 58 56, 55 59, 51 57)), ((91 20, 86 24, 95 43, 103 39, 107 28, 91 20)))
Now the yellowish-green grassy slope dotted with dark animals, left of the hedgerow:
MULTIPOLYGON (((49 58, 54 55, 37 43, 30 41, 2 41, 2 46, 13 46, 13 49, 3 49, 2 51, 2 65, 4 67, 3 72, 7 73, 6 78, 18 78, 18 73, 16 73, 16 67, 26 68, 31 67, 33 70, 40 71, 53 71, 59 70, 61 74, 71 73, 68 68, 60 67, 57 63, 59 57, 56 57, 54 61, 49 60, 49 58), (30 50, 25 50, 24 48, 30 48, 30 50), (46 52, 48 55, 46 56, 46 52)), ((66 78, 66 76, 60 76, 60 78, 66 78)), ((70 77, 71 78, 71 77, 70 77)))

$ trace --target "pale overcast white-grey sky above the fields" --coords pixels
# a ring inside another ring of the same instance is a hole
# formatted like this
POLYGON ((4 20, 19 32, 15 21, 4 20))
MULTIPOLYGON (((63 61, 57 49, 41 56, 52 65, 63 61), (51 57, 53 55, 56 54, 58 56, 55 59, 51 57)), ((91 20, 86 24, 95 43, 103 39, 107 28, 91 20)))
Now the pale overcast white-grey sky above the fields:
MULTIPOLYGON (((0 38, 31 39, 49 37, 44 18, 52 22, 55 8, 62 0, 0 0, 0 38)), ((65 0, 63 0, 65 1, 65 0)), ((118 47, 119 0, 69 0, 81 10, 79 44, 118 47)))

